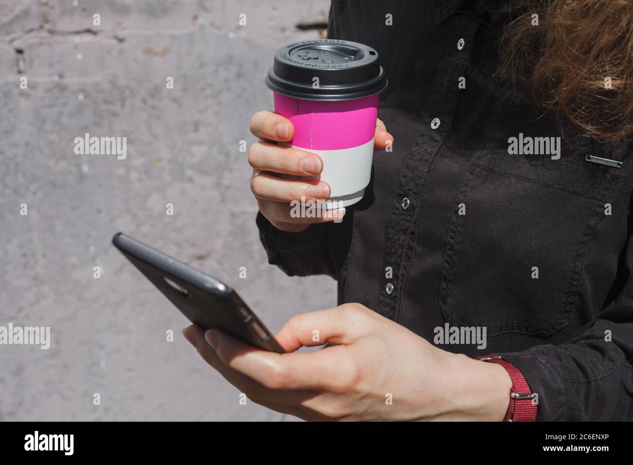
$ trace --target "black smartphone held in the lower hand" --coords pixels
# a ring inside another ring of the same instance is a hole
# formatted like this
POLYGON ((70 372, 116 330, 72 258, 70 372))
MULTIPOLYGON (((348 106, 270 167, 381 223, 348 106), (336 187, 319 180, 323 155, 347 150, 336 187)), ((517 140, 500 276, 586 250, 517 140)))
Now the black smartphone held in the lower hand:
POLYGON ((112 244, 174 304, 191 323, 219 328, 258 349, 285 353, 279 342, 232 288, 123 233, 112 244))

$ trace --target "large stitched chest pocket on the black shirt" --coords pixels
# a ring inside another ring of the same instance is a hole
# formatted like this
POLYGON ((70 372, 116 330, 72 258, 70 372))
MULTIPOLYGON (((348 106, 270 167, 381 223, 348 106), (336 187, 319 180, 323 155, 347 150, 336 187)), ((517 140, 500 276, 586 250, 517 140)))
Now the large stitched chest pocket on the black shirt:
POLYGON ((617 175, 504 153, 475 157, 451 213, 439 304, 456 326, 548 336, 570 321, 584 254, 617 175))

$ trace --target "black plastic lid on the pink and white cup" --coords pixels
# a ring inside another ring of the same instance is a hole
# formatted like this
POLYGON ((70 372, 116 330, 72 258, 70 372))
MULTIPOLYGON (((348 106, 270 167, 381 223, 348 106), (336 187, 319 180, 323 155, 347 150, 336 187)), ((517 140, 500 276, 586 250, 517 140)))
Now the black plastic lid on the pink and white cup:
POLYGON ((268 70, 266 85, 288 97, 351 100, 387 87, 378 52, 348 40, 303 40, 281 47, 268 70), (318 77, 318 89, 313 79, 318 77))

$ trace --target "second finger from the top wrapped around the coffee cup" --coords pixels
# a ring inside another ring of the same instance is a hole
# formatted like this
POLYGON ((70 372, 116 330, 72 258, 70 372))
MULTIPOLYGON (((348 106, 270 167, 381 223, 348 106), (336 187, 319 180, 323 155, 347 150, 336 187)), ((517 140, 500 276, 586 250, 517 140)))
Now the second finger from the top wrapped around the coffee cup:
POLYGON ((248 163, 256 170, 287 175, 313 176, 323 170, 317 154, 268 142, 255 142, 248 151, 248 163))

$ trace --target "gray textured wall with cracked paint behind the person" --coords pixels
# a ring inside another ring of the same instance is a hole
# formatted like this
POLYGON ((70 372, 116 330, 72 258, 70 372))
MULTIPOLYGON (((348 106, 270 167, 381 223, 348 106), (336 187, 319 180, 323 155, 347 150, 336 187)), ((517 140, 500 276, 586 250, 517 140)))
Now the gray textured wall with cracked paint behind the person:
POLYGON ((254 142, 250 116, 272 108, 273 51, 316 38, 295 25, 328 11, 329 0, 0 0, 0 326, 52 333, 49 350, 0 345, 0 420, 288 419, 239 405, 182 337, 187 320, 110 240, 122 230, 223 278, 273 330, 335 304, 331 279, 266 263, 239 151, 254 142), (127 137, 127 159, 76 155, 86 132, 127 137))

